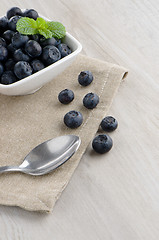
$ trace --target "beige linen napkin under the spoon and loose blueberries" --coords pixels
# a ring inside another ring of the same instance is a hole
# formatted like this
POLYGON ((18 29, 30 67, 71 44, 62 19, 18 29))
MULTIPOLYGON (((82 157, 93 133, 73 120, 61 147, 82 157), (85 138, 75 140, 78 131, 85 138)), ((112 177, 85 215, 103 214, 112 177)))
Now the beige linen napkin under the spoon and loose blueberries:
POLYGON ((0 166, 19 165, 38 144, 65 134, 81 138, 81 146, 64 165, 44 176, 23 173, 0 175, 0 204, 19 206, 30 211, 50 212, 79 164, 87 145, 92 141, 116 93, 126 70, 115 64, 80 55, 61 75, 32 95, 0 95, 0 166), (90 70, 94 81, 82 87, 77 81, 82 70, 90 70), (62 105, 58 93, 72 89, 75 99, 62 105), (82 104, 88 92, 100 97, 98 106, 89 110, 82 104), (83 125, 69 129, 63 123, 65 113, 81 111, 83 125))

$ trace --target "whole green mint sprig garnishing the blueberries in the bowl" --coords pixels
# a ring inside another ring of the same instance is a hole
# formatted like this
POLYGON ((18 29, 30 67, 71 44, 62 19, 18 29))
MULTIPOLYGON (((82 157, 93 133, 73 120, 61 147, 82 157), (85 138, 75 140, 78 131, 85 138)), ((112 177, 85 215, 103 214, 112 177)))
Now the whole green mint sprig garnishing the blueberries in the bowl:
POLYGON ((60 39, 66 35, 66 29, 62 23, 45 21, 40 17, 36 20, 28 17, 20 18, 16 24, 16 30, 25 35, 40 34, 45 38, 60 39))

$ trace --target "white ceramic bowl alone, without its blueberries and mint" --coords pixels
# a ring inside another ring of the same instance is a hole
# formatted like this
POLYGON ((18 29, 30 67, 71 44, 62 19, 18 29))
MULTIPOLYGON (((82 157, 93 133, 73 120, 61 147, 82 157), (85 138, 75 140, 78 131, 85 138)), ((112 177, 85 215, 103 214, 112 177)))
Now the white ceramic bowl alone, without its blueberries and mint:
POLYGON ((79 41, 69 33, 66 33, 63 42, 71 48, 71 54, 15 83, 9 85, 0 84, 0 93, 11 96, 31 94, 36 92, 46 83, 52 81, 75 60, 82 50, 82 45, 79 41))

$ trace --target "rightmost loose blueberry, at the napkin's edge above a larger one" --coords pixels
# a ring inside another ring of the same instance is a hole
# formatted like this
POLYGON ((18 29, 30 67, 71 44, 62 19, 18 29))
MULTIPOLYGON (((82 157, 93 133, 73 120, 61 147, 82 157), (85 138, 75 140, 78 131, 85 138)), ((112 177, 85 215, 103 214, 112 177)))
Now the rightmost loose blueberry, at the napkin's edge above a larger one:
POLYGON ((114 131, 117 128, 117 126, 118 126, 118 122, 112 116, 107 116, 107 117, 103 118, 103 120, 101 122, 101 128, 107 132, 114 131))

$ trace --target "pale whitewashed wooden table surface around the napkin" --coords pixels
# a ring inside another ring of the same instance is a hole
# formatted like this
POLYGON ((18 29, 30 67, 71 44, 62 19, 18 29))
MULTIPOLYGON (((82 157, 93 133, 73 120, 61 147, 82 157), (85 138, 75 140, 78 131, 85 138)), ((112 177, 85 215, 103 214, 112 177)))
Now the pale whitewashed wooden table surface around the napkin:
POLYGON ((1 0, 60 21, 83 54, 118 63, 129 75, 109 114, 114 147, 91 145, 51 214, 0 206, 0 240, 159 239, 159 2, 157 0, 1 0))

